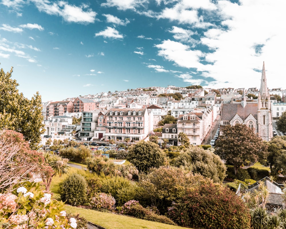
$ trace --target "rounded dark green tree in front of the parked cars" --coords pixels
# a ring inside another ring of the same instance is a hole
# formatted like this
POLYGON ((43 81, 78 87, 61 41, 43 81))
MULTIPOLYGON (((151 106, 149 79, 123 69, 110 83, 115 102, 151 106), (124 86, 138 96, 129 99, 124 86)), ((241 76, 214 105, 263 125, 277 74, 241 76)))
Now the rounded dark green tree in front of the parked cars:
POLYGON ((150 168, 164 164, 164 153, 160 147, 150 141, 139 141, 128 148, 127 160, 136 166, 139 172, 147 173, 150 168))

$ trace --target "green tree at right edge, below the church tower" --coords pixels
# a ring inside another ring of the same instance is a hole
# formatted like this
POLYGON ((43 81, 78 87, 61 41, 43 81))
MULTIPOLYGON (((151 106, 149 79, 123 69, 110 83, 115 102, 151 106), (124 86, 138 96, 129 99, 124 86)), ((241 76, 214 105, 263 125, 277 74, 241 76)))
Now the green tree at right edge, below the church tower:
MULTIPOLYGON (((277 158, 281 155, 282 150, 286 150, 286 137, 285 136, 276 136, 268 142, 268 155, 267 155, 267 164, 269 164, 271 173, 274 173, 275 169, 273 165, 276 163, 277 158)), ((277 171, 276 171, 277 172, 277 171)))

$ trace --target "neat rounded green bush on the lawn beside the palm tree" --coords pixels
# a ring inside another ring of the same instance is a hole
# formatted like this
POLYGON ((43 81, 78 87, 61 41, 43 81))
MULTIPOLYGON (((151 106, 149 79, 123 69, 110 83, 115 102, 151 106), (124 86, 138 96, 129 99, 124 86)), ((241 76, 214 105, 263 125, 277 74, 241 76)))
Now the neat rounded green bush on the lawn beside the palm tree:
POLYGON ((62 183, 61 200, 72 206, 82 205, 86 201, 86 180, 80 174, 69 175, 62 183))

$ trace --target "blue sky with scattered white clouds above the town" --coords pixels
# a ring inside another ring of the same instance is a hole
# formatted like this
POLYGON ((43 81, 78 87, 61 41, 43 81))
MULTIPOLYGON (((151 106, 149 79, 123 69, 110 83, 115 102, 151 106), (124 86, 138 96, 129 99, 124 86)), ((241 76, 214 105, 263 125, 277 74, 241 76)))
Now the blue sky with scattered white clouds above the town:
POLYGON ((0 0, 0 68, 42 101, 168 85, 286 89, 285 0, 0 0))

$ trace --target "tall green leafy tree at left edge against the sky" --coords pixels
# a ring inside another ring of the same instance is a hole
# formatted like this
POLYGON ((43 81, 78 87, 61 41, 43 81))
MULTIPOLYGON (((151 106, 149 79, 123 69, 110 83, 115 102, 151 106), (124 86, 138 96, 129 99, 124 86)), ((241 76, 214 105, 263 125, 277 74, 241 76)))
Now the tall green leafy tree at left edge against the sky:
POLYGON ((41 96, 38 92, 29 100, 19 93, 16 80, 11 79, 13 68, 5 73, 0 70, 0 128, 22 133, 32 150, 39 149, 44 133, 41 114, 41 96))

